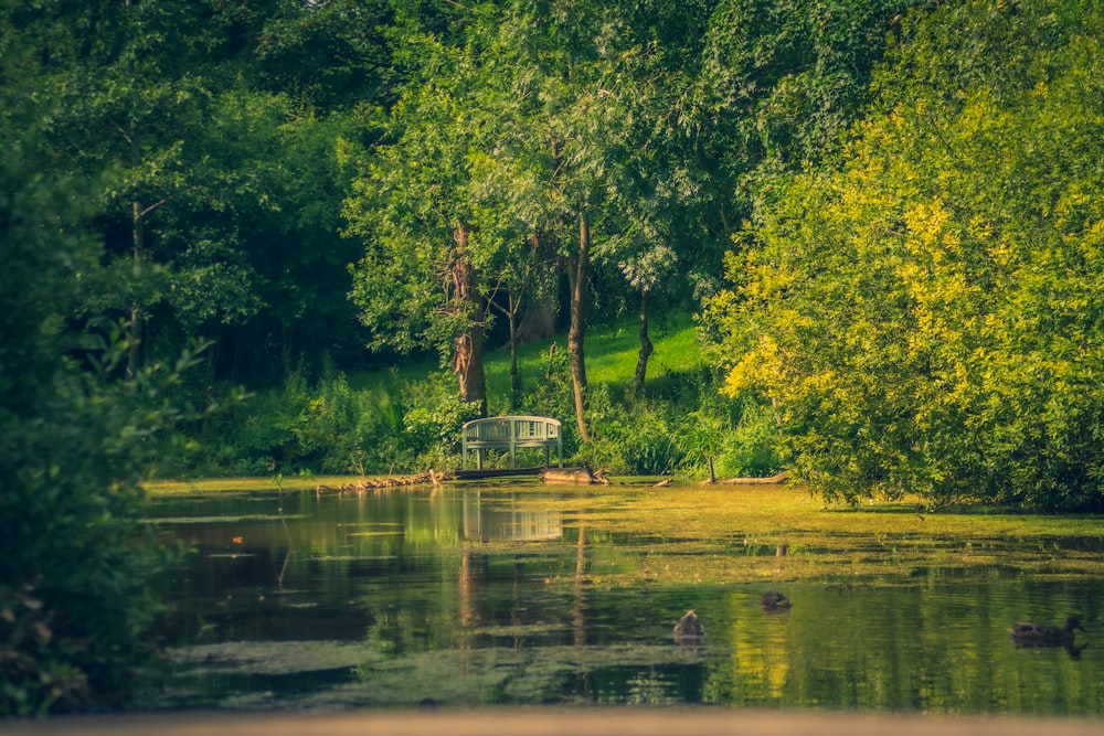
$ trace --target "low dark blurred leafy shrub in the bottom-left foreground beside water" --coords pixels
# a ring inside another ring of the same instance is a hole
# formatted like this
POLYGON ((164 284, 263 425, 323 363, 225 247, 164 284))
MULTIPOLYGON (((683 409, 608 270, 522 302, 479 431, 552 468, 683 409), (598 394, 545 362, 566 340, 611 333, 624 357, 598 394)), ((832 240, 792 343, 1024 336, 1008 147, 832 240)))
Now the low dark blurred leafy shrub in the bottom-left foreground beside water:
MULTIPOLYGON (((55 374, 33 416, 0 412, 0 714, 118 707, 158 651, 150 576, 167 561, 138 480, 181 418, 179 375, 55 374)), ((183 367, 184 364, 181 364, 183 367)))

